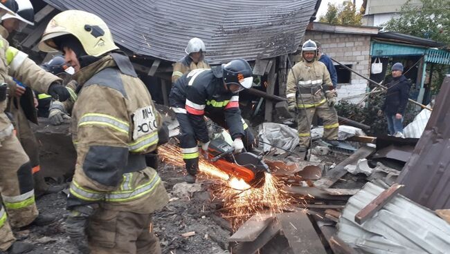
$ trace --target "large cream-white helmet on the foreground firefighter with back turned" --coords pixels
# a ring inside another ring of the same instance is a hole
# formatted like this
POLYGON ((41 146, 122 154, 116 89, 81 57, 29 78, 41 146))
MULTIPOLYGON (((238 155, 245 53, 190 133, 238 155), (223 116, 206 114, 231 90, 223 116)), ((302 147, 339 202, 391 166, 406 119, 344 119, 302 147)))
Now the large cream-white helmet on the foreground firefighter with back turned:
POLYGON ((105 21, 96 14, 82 10, 66 10, 55 15, 44 30, 39 50, 44 52, 61 50, 55 39, 64 35, 73 35, 77 38, 87 55, 93 57, 118 50, 105 21))

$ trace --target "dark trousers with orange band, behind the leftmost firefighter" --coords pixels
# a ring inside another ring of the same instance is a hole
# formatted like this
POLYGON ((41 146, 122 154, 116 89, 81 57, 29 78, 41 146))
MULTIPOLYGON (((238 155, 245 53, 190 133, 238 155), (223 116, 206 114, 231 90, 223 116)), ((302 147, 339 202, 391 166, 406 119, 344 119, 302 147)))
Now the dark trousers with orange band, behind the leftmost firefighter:
POLYGON ((14 116, 14 127, 17 133, 17 139, 25 150, 26 155, 30 158, 30 164, 33 168, 33 180, 36 195, 44 193, 48 189, 39 165, 39 143, 31 129, 30 122, 26 118, 24 109, 18 104, 18 100, 13 98, 11 100, 10 113, 14 116), (18 105, 18 106, 15 106, 18 105))

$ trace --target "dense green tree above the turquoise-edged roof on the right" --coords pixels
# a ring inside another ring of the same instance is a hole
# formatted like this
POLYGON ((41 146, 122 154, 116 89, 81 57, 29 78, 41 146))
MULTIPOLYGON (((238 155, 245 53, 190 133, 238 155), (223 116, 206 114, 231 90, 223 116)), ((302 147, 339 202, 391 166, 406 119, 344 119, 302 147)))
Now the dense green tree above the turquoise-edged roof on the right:
MULTIPOLYGON (((445 43, 448 48, 450 46, 450 0, 420 0, 421 6, 413 6, 410 1, 402 6, 398 17, 384 24, 385 30, 432 39, 445 43)), ((438 92, 447 70, 448 66, 439 64, 434 66, 431 84, 433 92, 438 92)))

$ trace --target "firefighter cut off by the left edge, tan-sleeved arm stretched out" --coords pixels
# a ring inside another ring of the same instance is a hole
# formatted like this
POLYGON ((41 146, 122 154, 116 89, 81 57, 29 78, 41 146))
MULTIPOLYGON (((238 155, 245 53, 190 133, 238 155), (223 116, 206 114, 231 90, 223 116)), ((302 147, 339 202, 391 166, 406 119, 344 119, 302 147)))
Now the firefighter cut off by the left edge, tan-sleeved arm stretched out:
MULTIPOLYGON (((4 6, 14 6, 12 2, 1 1, 0 9, 7 10, 4 6)), ((35 88, 42 92, 55 92, 55 88, 61 86, 60 79, 47 75, 26 54, 9 46, 4 39, 8 37, 8 31, 3 26, 0 26, 0 35, 0 57, 3 63, 0 65, 0 84, 7 82, 8 86, 15 86, 12 76, 27 83, 33 82, 35 88)), ((63 94, 60 95, 61 99, 65 99, 63 94)), ((26 253, 33 248, 33 244, 15 242, 10 224, 21 227, 31 222, 44 222, 45 219, 38 217, 29 158, 12 133, 14 127, 4 113, 6 107, 7 100, 0 101, 0 193, 4 204, 0 208, 0 251, 26 253)))

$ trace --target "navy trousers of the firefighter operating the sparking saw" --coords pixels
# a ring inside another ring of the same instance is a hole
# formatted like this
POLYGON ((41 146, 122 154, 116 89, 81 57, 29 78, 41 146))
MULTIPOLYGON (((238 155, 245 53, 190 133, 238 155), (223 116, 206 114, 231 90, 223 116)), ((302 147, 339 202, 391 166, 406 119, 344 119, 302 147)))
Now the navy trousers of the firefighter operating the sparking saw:
MULTIPOLYGON (((195 131, 190 124, 187 114, 176 113, 176 115, 180 124, 179 141, 183 153, 183 160, 186 164, 186 170, 190 175, 196 175, 199 168, 199 148, 197 146, 195 131)), ((224 117, 211 118, 213 121, 217 120, 215 121, 217 125, 228 129, 226 122, 219 121, 219 119, 224 119, 224 117)), ((242 119, 242 125, 244 126, 244 137, 242 138, 242 142, 244 143, 245 148, 249 150, 249 148, 255 144, 255 138, 253 137, 253 133, 251 133, 251 130, 245 123, 244 119, 242 119)))

